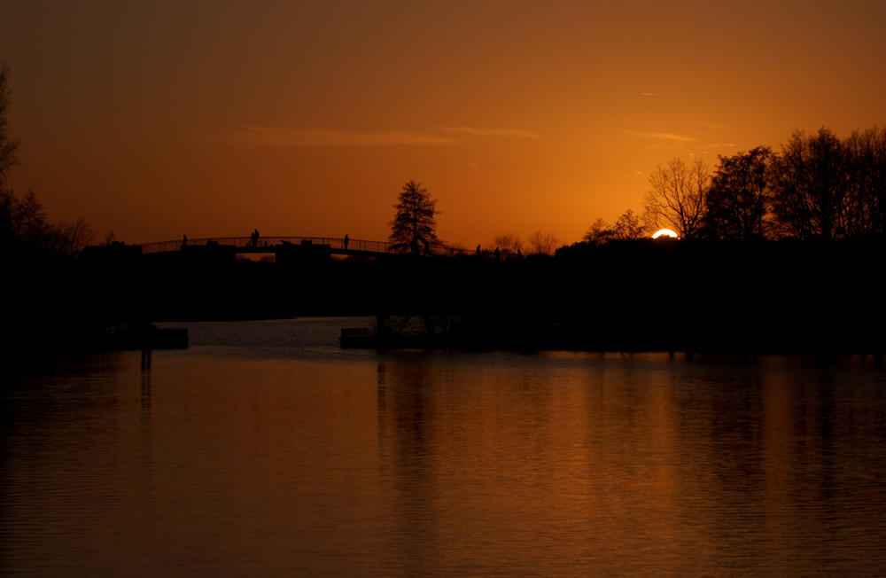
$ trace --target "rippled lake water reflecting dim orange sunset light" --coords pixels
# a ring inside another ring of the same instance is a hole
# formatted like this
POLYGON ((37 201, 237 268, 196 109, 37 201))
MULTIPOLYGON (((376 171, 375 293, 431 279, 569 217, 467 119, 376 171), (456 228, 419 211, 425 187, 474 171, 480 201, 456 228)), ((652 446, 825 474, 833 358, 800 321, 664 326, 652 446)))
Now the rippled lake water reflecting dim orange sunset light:
POLYGON ((0 574, 886 574, 886 370, 170 324, 0 392, 0 574))

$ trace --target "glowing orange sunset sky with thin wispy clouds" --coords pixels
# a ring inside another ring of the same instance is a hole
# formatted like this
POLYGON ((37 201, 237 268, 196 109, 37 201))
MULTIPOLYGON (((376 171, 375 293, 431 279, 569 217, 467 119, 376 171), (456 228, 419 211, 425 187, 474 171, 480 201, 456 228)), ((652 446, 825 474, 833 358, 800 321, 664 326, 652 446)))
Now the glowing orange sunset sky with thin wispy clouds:
POLYGON ((12 136, 54 219, 129 243, 578 240, 675 155, 886 123, 886 2, 0 0, 12 136), (185 4, 185 5, 181 5, 185 4))

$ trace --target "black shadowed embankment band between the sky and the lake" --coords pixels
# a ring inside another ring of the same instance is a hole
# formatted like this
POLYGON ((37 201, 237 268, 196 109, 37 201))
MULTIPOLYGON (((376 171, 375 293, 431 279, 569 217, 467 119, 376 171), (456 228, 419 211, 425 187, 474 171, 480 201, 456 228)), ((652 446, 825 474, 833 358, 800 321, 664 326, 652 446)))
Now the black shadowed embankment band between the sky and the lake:
POLYGON ((365 315, 416 318, 426 337, 409 343, 426 347, 886 349, 886 251, 869 241, 623 241, 508 262, 392 255, 267 263, 206 249, 7 260, 18 286, 8 305, 13 340, 72 348, 89 346, 90 332, 157 321, 365 315))

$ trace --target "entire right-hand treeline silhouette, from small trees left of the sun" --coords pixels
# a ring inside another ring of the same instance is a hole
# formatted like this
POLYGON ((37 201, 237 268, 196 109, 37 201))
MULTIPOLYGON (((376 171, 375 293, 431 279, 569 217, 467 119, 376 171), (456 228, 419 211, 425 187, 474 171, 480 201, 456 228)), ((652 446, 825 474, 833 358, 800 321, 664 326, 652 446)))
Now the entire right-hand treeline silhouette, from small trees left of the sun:
POLYGON ((641 216, 598 219, 587 242, 642 238, 668 228, 680 238, 882 238, 886 233, 886 129, 797 131, 780 151, 758 146, 703 160, 674 158, 649 177, 641 216))

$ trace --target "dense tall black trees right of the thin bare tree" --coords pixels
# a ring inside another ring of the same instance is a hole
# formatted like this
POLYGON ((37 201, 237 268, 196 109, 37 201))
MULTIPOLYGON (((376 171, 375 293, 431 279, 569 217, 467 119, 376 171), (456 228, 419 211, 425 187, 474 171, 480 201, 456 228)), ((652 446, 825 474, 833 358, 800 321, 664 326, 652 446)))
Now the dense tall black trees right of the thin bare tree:
POLYGON ((720 157, 704 206, 700 235, 712 238, 881 238, 886 129, 797 131, 781 152, 720 157))

